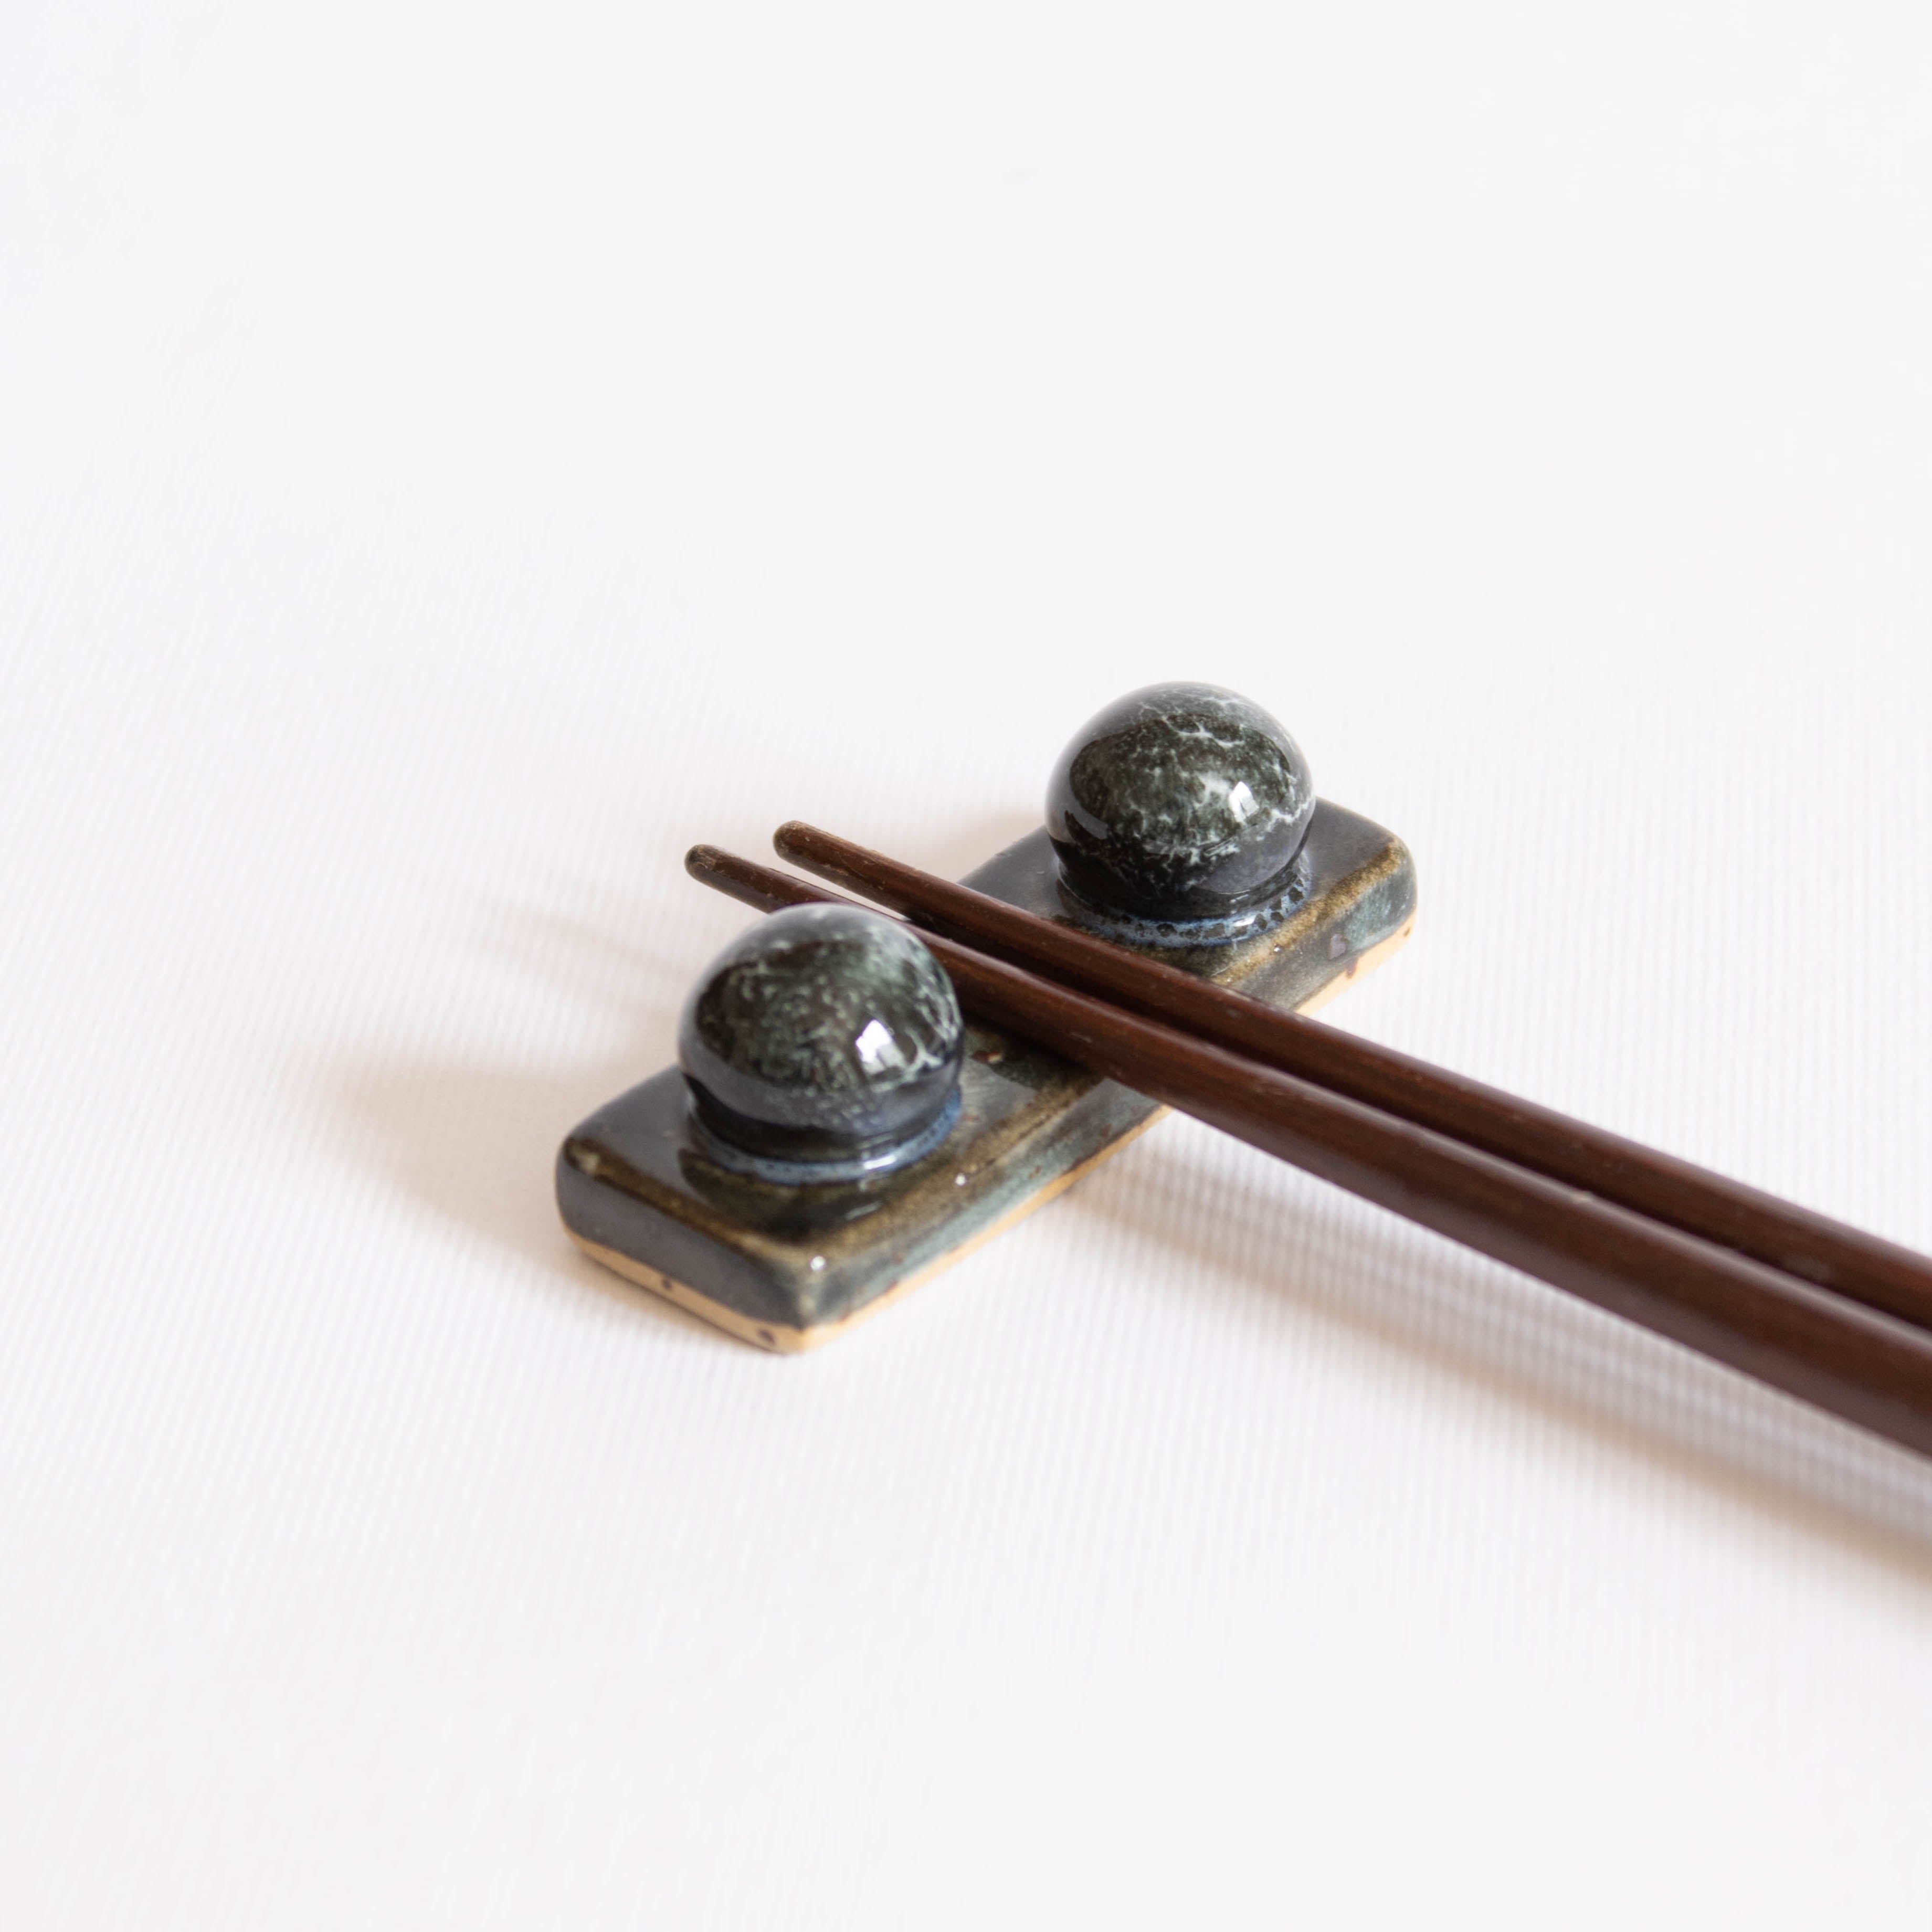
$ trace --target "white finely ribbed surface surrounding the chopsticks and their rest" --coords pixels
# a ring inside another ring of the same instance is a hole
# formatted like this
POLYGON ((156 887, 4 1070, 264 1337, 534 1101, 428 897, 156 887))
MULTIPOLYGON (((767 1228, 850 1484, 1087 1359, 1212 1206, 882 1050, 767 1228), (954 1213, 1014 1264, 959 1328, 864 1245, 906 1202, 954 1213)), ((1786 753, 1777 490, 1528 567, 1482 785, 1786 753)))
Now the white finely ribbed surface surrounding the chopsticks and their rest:
POLYGON ((1924 1932, 1924 1463, 1184 1121, 802 1360, 549 1192, 1200 676, 1932 1246, 1922 10, 0 19, 0 1917, 1924 1932))

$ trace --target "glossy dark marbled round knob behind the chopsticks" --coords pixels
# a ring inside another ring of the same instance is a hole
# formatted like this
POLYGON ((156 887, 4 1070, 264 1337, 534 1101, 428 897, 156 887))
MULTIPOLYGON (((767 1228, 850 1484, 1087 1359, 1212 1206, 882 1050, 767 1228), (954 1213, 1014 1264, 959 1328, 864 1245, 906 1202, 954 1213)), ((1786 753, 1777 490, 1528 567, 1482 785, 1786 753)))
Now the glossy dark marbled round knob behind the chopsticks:
POLYGON ((1316 792, 1308 759, 1217 684, 1150 684, 1092 719, 1047 786, 1076 912, 1126 937, 1208 943, 1293 902, 1316 792))

